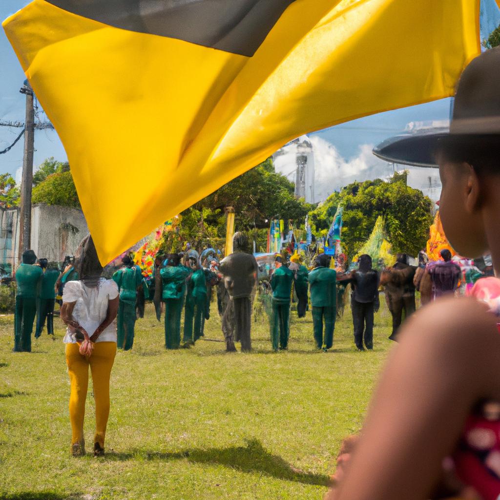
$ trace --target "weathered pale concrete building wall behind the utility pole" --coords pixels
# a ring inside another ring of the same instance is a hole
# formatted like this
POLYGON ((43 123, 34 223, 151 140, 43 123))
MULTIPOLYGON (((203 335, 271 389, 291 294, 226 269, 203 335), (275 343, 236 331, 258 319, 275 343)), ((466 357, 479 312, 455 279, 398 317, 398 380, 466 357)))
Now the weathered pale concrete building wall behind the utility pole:
MULTIPOLYGON (((65 255, 74 255, 87 233, 81 210, 44 203, 31 207, 31 249, 39 258, 62 262, 65 255)), ((18 263, 18 248, 19 209, 0 208, 0 265, 9 272, 18 263)))

